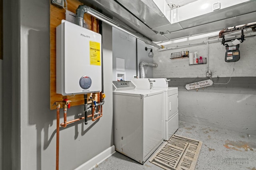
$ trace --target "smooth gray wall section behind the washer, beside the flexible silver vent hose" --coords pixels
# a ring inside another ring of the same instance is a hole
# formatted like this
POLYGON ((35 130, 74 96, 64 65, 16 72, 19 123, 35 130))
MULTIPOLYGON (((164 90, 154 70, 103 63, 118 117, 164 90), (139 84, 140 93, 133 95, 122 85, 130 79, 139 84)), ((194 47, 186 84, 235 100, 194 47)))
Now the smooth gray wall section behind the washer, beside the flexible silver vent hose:
MULTIPOLYGON (((116 81, 116 72, 125 73, 126 80, 131 80, 133 76, 140 77, 140 63, 146 61, 153 63, 153 58, 148 57, 150 50, 146 51, 145 47, 152 48, 146 45, 143 41, 113 28, 113 81, 116 81), (136 52, 137 41, 137 52, 136 52), (137 54, 136 54, 137 53, 137 54), (137 56, 136 56, 137 55, 137 56), (116 58, 125 60, 125 70, 116 70, 116 58), (136 67, 137 65, 137 67, 136 67)), ((154 53, 154 51, 153 51, 154 53)), ((153 76, 153 68, 145 66, 146 78, 153 76)))

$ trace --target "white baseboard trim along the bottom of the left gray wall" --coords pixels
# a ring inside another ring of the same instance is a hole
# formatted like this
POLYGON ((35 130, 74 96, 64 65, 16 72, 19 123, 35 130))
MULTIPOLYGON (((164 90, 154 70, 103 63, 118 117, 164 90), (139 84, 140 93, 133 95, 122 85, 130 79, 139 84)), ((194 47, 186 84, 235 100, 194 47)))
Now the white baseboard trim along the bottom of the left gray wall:
POLYGON ((100 154, 94 156, 84 164, 78 166, 75 170, 92 170, 98 166, 101 162, 106 160, 112 154, 116 153, 115 146, 109 147, 108 149, 104 150, 100 154))

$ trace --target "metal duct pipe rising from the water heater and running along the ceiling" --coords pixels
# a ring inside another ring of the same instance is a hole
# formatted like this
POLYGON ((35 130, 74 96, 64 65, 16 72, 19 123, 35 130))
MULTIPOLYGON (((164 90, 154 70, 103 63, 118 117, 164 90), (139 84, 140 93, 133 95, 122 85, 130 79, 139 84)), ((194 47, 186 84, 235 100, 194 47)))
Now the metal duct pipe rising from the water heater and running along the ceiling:
POLYGON ((119 23, 117 23, 116 21, 108 18, 107 16, 104 16, 103 14, 101 14, 100 12, 86 6, 86 5, 80 5, 78 6, 78 8, 76 9, 76 24, 80 25, 82 27, 82 25, 84 24, 84 13, 88 13, 91 16, 94 16, 96 18, 98 18, 99 20, 107 23, 108 25, 111 25, 112 27, 115 27, 121 31, 124 31, 125 33, 128 33, 130 35, 132 35, 135 38, 138 38, 142 41, 144 41, 144 43, 148 44, 148 45, 152 45, 153 47, 156 47, 158 49, 162 49, 162 47, 160 45, 157 45, 155 43, 153 43, 150 39, 144 37, 143 35, 141 35, 140 33, 134 32, 130 29, 127 29, 126 27, 120 25, 119 23))

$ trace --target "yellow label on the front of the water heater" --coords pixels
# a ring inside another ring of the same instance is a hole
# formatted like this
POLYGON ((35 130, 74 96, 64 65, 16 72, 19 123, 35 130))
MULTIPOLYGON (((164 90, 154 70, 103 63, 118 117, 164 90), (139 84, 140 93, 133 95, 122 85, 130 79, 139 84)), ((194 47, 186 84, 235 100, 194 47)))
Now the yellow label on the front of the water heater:
POLYGON ((90 65, 100 66, 100 43, 90 41, 90 65))

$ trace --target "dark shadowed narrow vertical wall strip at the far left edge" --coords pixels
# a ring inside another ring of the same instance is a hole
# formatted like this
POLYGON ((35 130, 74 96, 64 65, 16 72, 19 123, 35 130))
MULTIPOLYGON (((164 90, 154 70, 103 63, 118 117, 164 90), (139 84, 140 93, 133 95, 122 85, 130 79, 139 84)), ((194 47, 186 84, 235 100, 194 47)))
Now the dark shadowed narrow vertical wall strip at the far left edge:
POLYGON ((20 1, 3 1, 3 168, 20 169, 20 1), (10 13, 10 11, 12 11, 10 13))

